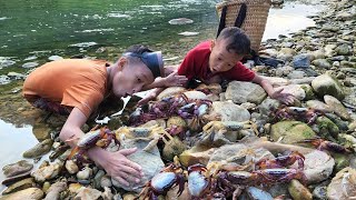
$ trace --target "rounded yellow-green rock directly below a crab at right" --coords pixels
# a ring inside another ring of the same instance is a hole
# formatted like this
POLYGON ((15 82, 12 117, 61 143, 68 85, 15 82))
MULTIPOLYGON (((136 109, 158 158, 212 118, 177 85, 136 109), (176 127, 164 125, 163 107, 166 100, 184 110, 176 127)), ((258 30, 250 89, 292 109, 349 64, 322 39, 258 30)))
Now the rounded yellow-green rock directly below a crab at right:
POLYGON ((294 143, 305 139, 315 138, 316 133, 309 126, 300 121, 280 121, 271 126, 270 138, 274 141, 281 139, 283 143, 294 143))

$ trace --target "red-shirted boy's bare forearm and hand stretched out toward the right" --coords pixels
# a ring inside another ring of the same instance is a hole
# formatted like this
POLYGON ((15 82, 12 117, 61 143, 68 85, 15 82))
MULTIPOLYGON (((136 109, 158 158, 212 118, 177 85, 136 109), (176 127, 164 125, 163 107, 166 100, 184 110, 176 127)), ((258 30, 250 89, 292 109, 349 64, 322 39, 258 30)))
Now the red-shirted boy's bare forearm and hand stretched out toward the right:
POLYGON ((264 79, 258 74, 255 74, 253 82, 263 87, 270 98, 277 99, 285 104, 291 104, 296 100, 296 98, 290 93, 281 93, 283 89, 275 90, 267 79, 264 79))

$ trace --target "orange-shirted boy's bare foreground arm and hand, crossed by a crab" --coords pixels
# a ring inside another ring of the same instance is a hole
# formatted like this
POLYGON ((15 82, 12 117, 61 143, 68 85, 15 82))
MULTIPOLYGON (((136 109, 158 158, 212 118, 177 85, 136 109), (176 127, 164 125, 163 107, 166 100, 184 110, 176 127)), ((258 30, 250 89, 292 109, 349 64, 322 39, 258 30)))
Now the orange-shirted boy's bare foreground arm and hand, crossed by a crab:
MULTIPOLYGON (((70 112, 59 138, 75 148, 78 140, 85 136, 80 128, 85 124, 86 117, 78 108, 73 108, 70 112)), ((141 167, 126 157, 134 153, 136 149, 123 149, 117 152, 109 152, 99 147, 87 150, 88 156, 120 183, 129 186, 129 182, 139 182, 142 171, 141 167)))

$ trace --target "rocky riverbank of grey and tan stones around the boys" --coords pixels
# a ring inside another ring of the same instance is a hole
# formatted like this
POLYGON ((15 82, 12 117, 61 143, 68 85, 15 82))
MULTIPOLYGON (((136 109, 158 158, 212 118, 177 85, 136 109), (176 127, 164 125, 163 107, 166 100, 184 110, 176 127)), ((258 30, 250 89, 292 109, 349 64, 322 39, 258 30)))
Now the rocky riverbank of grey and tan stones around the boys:
MULTIPOLYGON (((128 118, 138 100, 135 98, 122 117, 111 118, 108 128, 117 130, 116 137, 121 146, 112 143, 108 150, 140 149, 130 159, 144 168, 145 180, 130 187, 120 186, 100 167, 88 164, 79 168, 72 160, 67 160, 70 149, 58 138, 66 118, 51 116, 44 120, 44 112, 19 100, 22 82, 9 84, 1 91, 4 93, 1 108, 7 108, 1 111, 2 116, 19 123, 32 120, 36 124, 33 132, 41 140, 23 157, 36 160, 51 152, 50 160, 42 161, 39 168, 33 169, 29 161, 4 167, 2 171, 7 180, 3 184, 8 188, 0 199, 132 199, 146 181, 162 174, 159 171, 174 161, 177 168, 184 170, 200 163, 202 167, 195 170, 207 177, 192 177, 197 173, 191 170, 189 176, 175 171, 182 174, 187 182, 178 199, 214 194, 211 188, 198 190, 191 181, 208 182, 208 177, 212 177, 209 181, 219 181, 224 173, 214 173, 214 170, 221 172, 227 169, 224 167, 231 166, 239 169, 240 177, 231 180, 224 177, 224 180, 230 181, 229 184, 219 183, 221 188, 226 187, 225 194, 231 196, 235 191, 239 199, 284 196, 293 199, 346 200, 356 197, 356 1, 329 1, 326 11, 312 18, 316 27, 293 33, 290 38, 280 36, 277 40, 263 43, 260 53, 277 58, 283 64, 269 68, 256 66, 253 61, 245 63, 269 79, 275 88, 284 88, 285 92, 295 94, 298 102, 294 107, 285 107, 267 98, 257 84, 233 81, 222 87, 200 86, 196 91, 169 88, 156 101, 158 103, 161 98, 177 98, 185 93, 189 102, 198 108, 206 104, 201 108, 207 110, 199 110, 205 116, 199 118, 199 122, 201 120, 204 123, 182 119, 178 114, 169 116, 166 120, 141 124, 147 136, 139 138, 135 133, 142 129, 119 129, 132 122, 132 114, 128 118), (212 122, 207 123, 209 120, 212 122), (245 126, 241 122, 246 122, 245 126), (156 133, 165 132, 162 128, 175 133, 175 137, 164 133, 167 141, 150 146, 147 150, 156 133), (313 141, 313 144, 307 141, 313 141), (179 156, 179 159, 174 159, 174 156, 179 156), (266 170, 266 167, 271 169, 266 170), (250 178, 255 174, 263 177, 250 178), (243 182, 243 176, 248 178, 248 182, 243 182)), ((101 113, 109 116, 120 106, 106 108, 101 113)), ((146 122, 145 119, 139 120, 146 122)), ((136 120, 134 122, 138 123, 136 120)), ((83 130, 89 131, 91 127, 93 122, 89 122, 83 130)), ((178 187, 168 190, 166 199, 177 198, 178 187)), ((219 189, 216 191, 222 192, 219 189)))

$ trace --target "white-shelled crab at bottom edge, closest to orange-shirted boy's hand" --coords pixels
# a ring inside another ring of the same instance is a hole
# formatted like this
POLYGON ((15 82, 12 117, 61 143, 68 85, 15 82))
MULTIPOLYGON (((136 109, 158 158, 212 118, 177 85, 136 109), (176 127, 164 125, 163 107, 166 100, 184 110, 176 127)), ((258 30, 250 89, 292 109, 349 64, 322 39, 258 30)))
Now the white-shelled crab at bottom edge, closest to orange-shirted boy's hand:
POLYGON ((174 186, 179 186, 178 196, 180 196, 185 186, 184 173, 179 166, 171 163, 146 183, 139 197, 158 199, 158 196, 166 194, 174 186))

